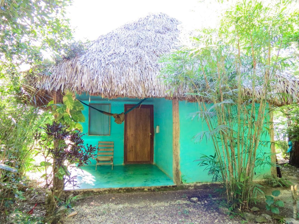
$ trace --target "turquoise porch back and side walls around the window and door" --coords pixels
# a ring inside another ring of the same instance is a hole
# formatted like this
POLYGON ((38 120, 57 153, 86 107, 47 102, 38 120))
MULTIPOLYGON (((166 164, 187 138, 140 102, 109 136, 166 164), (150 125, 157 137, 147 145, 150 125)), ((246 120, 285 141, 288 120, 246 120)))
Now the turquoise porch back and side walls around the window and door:
MULTIPOLYGON (((111 104, 111 113, 122 113, 125 104, 137 104, 140 99, 117 98, 102 99, 100 96, 80 95, 77 99, 89 103, 111 104), (90 99, 90 102, 89 102, 90 99)), ((154 105, 154 128, 160 126, 160 133, 154 134, 154 163, 172 178, 172 102, 166 99, 147 99, 143 104, 154 105)), ((89 108, 84 105, 85 122, 82 122, 84 144, 97 146, 98 141, 114 142, 114 165, 123 165, 124 159, 124 122, 116 124, 114 118, 110 117, 109 136, 90 136, 88 135, 89 108)), ((155 132, 155 131, 154 131, 155 132)), ((92 160, 95 164, 95 160, 92 160)))

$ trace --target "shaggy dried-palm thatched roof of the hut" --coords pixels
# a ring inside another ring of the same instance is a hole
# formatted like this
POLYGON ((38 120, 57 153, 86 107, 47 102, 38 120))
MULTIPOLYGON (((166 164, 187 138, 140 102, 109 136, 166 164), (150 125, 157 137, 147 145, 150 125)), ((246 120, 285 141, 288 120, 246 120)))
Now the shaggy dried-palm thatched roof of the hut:
MULTIPOLYGON (((91 42, 85 53, 64 59, 50 67, 51 75, 28 76, 28 86, 36 90, 36 105, 44 105, 55 91, 71 90, 103 98, 165 97, 187 99, 187 88, 175 93, 159 78, 161 55, 178 48, 180 22, 166 14, 150 14, 127 23, 91 42)), ((297 99, 299 80, 279 76, 277 93, 291 93, 297 99)), ((245 94, 250 87, 244 87, 245 94)), ((275 95, 275 94, 274 94, 275 95)), ((273 95, 273 96, 274 96, 273 95)), ((189 96, 190 97, 190 96, 189 96)), ((291 97, 292 98, 292 97, 291 97)), ((289 98, 291 102, 293 99, 289 98)), ((276 97, 277 105, 281 102, 276 97)))

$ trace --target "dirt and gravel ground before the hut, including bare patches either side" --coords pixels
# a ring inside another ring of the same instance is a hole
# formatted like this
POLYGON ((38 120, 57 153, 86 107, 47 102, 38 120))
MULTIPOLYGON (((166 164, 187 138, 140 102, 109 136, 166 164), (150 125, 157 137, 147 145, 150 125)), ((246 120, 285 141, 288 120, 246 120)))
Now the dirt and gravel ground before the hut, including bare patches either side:
MULTIPOLYGON (((283 177, 299 185, 299 168, 284 165, 287 161, 280 161, 283 177)), ((229 216, 219 212, 222 198, 215 193, 219 185, 195 185, 187 189, 144 189, 138 192, 102 194, 80 194, 84 199, 75 202, 74 211, 78 214, 66 217, 63 223, 250 223, 245 222, 240 215, 229 216), (190 198, 197 197, 199 203, 193 203, 190 198)), ((45 214, 45 192, 40 184, 24 186, 24 197, 14 208, 20 211, 29 211, 35 203, 33 215, 43 217, 45 214)), ((292 217, 292 197, 289 188, 273 188, 265 185, 263 191, 271 195, 273 190, 280 190, 279 200, 285 203, 280 208, 280 214, 292 217)), ((257 205, 260 208, 257 215, 269 213, 265 208, 265 198, 262 196, 257 205)), ((9 217, 4 223, 16 223, 9 217)), ((0 218, 0 223, 1 218, 0 218)), ((273 221, 272 223, 278 223, 273 221)))

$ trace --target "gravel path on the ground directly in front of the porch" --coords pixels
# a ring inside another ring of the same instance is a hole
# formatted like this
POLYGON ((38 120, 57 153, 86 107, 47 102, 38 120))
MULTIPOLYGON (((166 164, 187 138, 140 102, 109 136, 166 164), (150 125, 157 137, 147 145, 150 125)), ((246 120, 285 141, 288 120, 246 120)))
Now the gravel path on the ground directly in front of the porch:
POLYGON ((64 223, 241 223, 219 214, 214 200, 213 189, 101 194, 78 201, 64 223))

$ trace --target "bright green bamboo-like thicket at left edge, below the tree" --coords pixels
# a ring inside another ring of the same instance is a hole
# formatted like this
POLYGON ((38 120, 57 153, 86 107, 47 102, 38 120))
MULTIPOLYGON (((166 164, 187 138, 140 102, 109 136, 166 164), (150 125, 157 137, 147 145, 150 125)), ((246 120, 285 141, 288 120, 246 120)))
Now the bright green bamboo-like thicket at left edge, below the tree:
MULTIPOLYGON (((33 169, 34 129, 48 121, 48 112, 27 106, 7 92, 0 101, 0 212, 21 199, 23 175, 33 169)), ((1 216, 1 215, 0 215, 1 216)), ((2 216, 4 217, 4 215, 2 216)), ((1 220, 0 220, 1 222, 1 220)))

